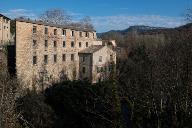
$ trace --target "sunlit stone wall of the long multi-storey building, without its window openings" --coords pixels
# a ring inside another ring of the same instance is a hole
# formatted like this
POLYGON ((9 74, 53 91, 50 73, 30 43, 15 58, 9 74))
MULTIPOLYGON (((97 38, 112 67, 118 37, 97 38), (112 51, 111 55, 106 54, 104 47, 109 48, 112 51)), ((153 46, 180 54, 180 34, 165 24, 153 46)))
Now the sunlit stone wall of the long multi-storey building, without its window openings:
POLYGON ((37 84, 41 80, 41 75, 46 76, 45 79, 48 81, 58 81, 63 74, 70 80, 79 78, 78 52, 86 48, 86 42, 88 46, 92 45, 96 40, 96 33, 89 32, 89 37, 85 37, 83 32, 83 37, 80 37, 79 31, 73 30, 72 37, 72 30, 65 30, 66 36, 62 34, 62 28, 16 21, 17 77, 27 87, 31 88, 31 85, 37 84), (33 34, 33 26, 37 27, 36 34, 33 34), (45 27, 48 28, 48 34, 44 34, 45 27), (54 35, 54 29, 57 29, 57 35, 54 35), (37 41, 35 46, 33 40, 37 41), (45 40, 48 41, 48 47, 45 47, 45 40), (57 47, 54 47, 54 41, 57 42, 57 47), (63 41, 66 42, 65 47, 63 41), (71 41, 74 41, 74 47, 71 47, 71 41), (66 56, 65 61, 62 60, 63 54, 66 56), (74 54, 74 61, 71 61, 71 54, 74 54), (44 64, 44 55, 48 55, 47 64, 44 64), (54 63, 54 55, 57 55, 56 63, 54 63), (37 57, 35 65, 33 65, 33 56, 37 57))

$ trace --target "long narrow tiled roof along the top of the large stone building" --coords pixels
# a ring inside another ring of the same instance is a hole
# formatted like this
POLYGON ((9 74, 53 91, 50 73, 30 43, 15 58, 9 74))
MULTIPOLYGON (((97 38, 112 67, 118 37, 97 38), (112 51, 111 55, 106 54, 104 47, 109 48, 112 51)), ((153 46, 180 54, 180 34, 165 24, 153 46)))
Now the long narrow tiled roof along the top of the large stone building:
POLYGON ((32 24, 38 24, 38 25, 45 25, 45 26, 51 26, 51 27, 57 27, 57 28, 63 28, 63 29, 72 29, 72 30, 77 30, 77 31, 95 32, 94 29, 75 27, 75 26, 71 26, 71 25, 58 25, 58 24, 54 24, 54 23, 46 23, 46 22, 43 22, 43 21, 36 21, 36 20, 25 19, 25 18, 17 18, 15 20, 19 21, 19 22, 26 22, 26 23, 32 23, 32 24))

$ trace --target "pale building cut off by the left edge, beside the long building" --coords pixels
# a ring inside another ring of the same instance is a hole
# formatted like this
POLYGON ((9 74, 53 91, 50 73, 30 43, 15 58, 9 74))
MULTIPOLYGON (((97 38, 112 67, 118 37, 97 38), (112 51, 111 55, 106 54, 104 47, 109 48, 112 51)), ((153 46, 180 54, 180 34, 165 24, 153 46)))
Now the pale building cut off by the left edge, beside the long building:
POLYGON ((10 19, 0 14, 0 46, 10 41, 10 19))

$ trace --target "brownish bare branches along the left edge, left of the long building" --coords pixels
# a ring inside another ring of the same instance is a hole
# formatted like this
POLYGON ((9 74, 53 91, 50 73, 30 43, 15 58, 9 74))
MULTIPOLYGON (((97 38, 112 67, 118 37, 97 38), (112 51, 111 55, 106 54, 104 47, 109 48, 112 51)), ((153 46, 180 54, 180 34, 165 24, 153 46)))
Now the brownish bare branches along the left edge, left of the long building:
POLYGON ((22 95, 23 90, 20 88, 19 83, 15 78, 11 78, 7 71, 6 64, 6 51, 3 53, 2 62, 0 63, 0 127, 1 128, 13 128, 19 127, 18 114, 16 109, 16 98, 22 95))

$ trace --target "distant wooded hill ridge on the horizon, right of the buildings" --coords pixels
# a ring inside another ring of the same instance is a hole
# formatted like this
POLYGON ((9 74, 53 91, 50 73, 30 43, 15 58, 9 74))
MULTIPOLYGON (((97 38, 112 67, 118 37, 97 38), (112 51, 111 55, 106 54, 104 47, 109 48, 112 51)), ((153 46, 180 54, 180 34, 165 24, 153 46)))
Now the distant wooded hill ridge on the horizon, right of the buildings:
MULTIPOLYGON (((178 32, 192 32, 192 23, 182 25, 176 28, 163 28, 163 27, 150 27, 150 26, 130 26, 124 30, 111 30, 104 33, 98 33, 97 36, 102 39, 115 39, 117 45, 119 46, 127 46, 128 43, 134 43, 133 40, 135 38, 153 38, 153 40, 157 37, 159 40, 158 35, 169 37, 170 35, 174 35, 178 32), (145 37, 144 37, 145 36, 145 37), (150 37, 149 37, 150 36, 150 37)), ((161 38, 160 37, 160 38, 161 38)), ((165 38, 165 37, 163 37, 165 38)))

